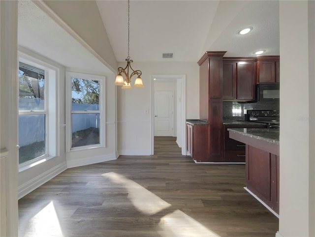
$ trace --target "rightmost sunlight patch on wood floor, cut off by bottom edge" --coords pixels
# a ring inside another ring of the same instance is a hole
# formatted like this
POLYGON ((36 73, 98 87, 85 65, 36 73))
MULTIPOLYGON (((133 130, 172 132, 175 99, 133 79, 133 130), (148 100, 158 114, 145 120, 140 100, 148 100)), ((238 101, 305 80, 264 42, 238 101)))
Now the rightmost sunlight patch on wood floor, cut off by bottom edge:
POLYGON ((165 237, 220 237, 180 210, 163 216, 159 227, 165 237))

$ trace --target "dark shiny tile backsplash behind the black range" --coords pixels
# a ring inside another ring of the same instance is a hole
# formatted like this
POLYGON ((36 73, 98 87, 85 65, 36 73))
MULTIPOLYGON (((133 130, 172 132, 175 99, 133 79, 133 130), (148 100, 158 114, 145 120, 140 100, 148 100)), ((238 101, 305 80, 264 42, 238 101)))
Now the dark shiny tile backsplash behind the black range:
POLYGON ((223 121, 245 120, 245 110, 280 110, 279 102, 238 103, 223 101, 223 121))

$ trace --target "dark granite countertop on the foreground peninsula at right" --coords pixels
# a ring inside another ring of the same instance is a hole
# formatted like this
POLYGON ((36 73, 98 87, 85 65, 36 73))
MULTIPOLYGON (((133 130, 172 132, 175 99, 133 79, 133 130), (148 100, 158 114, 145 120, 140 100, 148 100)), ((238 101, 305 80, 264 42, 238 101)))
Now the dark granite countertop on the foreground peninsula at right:
POLYGON ((279 145, 280 129, 278 128, 228 128, 230 132, 279 145))

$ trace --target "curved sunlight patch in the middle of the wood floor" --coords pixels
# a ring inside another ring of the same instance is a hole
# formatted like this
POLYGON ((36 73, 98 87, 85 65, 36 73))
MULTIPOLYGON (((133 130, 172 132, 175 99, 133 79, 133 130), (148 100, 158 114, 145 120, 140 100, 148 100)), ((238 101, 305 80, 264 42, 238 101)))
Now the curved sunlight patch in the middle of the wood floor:
POLYGON ((128 198, 133 206, 140 212, 146 215, 153 215, 159 211, 170 207, 171 205, 157 195, 145 189, 138 183, 125 178, 122 175, 114 172, 103 174, 103 177, 110 178, 111 181, 122 185, 128 192, 128 198))

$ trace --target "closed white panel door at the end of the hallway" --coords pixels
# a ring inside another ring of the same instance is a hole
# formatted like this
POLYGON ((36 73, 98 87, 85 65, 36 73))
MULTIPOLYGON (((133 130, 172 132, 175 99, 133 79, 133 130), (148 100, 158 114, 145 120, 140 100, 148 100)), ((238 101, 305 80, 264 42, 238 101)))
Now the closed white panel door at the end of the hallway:
POLYGON ((154 136, 174 136, 173 91, 154 91, 154 136))

